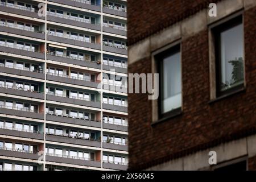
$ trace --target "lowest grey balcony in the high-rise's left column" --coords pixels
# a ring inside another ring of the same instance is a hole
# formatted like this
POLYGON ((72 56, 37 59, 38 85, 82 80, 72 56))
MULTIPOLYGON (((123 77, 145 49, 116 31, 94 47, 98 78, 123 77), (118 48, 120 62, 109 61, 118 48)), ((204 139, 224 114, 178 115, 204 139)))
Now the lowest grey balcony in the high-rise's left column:
POLYGON ((40 155, 31 151, 25 151, 25 150, 18 150, 15 148, 6 148, 6 147, 0 147, 0 155, 1 156, 7 156, 7 157, 13 157, 13 158, 22 158, 22 159, 32 159, 32 160, 38 160, 40 155))

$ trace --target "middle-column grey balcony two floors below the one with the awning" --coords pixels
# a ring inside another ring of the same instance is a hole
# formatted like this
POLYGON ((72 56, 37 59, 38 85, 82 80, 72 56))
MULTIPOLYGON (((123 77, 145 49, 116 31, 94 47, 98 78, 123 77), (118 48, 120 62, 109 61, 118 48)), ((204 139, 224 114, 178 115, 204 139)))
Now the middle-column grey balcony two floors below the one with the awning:
POLYGON ((101 102, 98 101, 90 101, 85 98, 81 97, 66 97, 63 94, 53 94, 53 93, 46 93, 46 100, 49 101, 56 101, 56 102, 65 102, 68 104, 75 104, 75 105, 81 105, 81 106, 88 106, 88 107, 97 107, 101 108, 101 102))

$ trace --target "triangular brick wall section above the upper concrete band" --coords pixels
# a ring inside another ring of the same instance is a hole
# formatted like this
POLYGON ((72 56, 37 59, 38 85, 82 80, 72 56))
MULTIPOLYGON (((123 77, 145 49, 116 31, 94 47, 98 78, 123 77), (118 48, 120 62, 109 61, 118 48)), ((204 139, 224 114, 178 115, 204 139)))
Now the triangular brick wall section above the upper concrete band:
POLYGON ((127 1, 128 44, 146 38, 175 22, 221 0, 129 0, 127 1), (149 16, 151 15, 151 16, 149 16))

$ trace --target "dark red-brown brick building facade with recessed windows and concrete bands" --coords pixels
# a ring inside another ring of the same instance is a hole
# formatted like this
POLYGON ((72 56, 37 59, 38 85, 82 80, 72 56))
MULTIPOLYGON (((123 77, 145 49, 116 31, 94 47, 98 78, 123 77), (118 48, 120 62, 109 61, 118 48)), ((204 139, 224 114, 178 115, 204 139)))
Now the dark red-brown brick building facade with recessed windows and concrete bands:
POLYGON ((255 170, 256 2, 127 3, 128 72, 159 74, 128 96, 129 169, 255 170))

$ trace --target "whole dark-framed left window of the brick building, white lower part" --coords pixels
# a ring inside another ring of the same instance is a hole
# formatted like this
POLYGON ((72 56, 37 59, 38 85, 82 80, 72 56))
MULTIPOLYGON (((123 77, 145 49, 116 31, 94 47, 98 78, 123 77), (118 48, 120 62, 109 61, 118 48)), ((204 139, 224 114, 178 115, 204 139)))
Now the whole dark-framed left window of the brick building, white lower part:
POLYGON ((159 73, 159 119, 181 111, 180 45, 155 56, 159 73))

